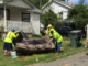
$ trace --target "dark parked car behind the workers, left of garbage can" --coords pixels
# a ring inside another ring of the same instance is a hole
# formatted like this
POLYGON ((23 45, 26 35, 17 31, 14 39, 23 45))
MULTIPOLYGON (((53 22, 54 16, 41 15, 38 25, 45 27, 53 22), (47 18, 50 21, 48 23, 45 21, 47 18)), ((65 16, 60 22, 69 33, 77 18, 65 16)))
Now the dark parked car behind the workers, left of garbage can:
POLYGON ((58 28, 55 28, 55 30, 62 35, 62 36, 68 36, 68 33, 70 31, 73 31, 72 28, 68 28, 68 26, 58 26, 58 28))

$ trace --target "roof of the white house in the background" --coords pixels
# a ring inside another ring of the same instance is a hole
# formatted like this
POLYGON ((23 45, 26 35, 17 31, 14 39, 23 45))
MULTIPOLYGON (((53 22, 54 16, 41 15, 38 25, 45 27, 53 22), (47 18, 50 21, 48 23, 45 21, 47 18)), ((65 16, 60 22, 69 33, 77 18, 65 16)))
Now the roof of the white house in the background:
POLYGON ((53 0, 53 1, 52 1, 52 0, 50 0, 42 9, 48 7, 48 4, 50 4, 50 3, 53 3, 53 2, 56 2, 56 3, 62 4, 62 6, 64 6, 64 7, 67 7, 67 8, 72 8, 72 7, 75 6, 75 4, 70 4, 69 2, 65 2, 65 1, 59 1, 59 0, 53 0))

